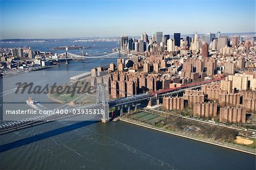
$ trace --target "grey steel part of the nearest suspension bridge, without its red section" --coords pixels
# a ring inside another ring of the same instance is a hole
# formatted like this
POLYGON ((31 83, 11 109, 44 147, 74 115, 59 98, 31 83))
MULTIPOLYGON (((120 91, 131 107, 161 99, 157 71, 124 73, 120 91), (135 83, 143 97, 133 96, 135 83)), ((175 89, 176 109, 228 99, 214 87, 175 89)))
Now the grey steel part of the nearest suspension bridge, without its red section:
MULTIPOLYGON (((137 103, 140 100, 145 100, 148 97, 150 97, 149 94, 142 94, 142 95, 135 95, 130 96, 122 99, 115 99, 115 100, 109 100, 109 94, 106 89, 105 84, 97 84, 96 86, 96 103, 90 104, 90 105, 84 105, 81 107, 69 109, 67 114, 43 114, 40 116, 35 116, 31 118, 25 118, 23 120, 19 121, 13 121, 13 122, 5 122, 5 124, 0 125, 0 133, 14 130, 18 128, 22 128, 28 125, 34 125, 39 124, 42 122, 48 122, 53 120, 62 120, 64 118, 69 118, 73 116, 79 116, 79 114, 73 114, 73 110, 76 109, 96 109, 96 110, 103 110, 103 114, 96 114, 95 117, 97 120, 101 120, 102 122, 108 122, 110 120, 109 117, 109 108, 110 107, 118 107, 119 105, 125 105, 128 103, 137 103)), ((122 107, 123 108, 123 107, 122 107)))

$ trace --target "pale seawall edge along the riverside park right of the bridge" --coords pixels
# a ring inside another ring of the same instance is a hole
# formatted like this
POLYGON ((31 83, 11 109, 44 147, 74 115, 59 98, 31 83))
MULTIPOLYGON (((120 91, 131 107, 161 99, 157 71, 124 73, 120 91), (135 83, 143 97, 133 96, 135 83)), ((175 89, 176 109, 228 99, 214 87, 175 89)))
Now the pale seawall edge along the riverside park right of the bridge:
POLYGON ((151 126, 148 126, 148 125, 143 125, 143 124, 141 124, 141 123, 134 122, 134 121, 131 121, 131 120, 128 120, 128 119, 129 119, 129 118, 123 118, 123 117, 120 117, 120 118, 119 118, 119 120, 121 120, 121 121, 123 121, 123 122, 127 122, 127 123, 134 124, 134 125, 137 125, 137 126, 142 126, 142 127, 144 127, 144 128, 148 128, 148 129, 152 129, 152 130, 156 130, 156 131, 161 131, 161 132, 163 132, 163 133, 176 135, 176 136, 178 136, 178 137, 183 137, 183 138, 187 138, 187 139, 192 139, 192 140, 198 141, 198 142, 208 143, 208 144, 210 144, 210 145, 215 145, 215 146, 219 146, 219 147, 225 147, 225 148, 228 148, 228 149, 231 149, 231 150, 236 150, 236 151, 244 152, 244 153, 246 153, 246 154, 256 155, 255 152, 240 150, 240 149, 238 149, 238 148, 233 148, 233 147, 230 147, 230 146, 220 145, 220 144, 218 144, 218 143, 205 141, 205 140, 203 140, 203 139, 197 139, 197 138, 193 138, 193 137, 188 137, 187 135, 177 134, 177 133, 173 133, 173 132, 170 132, 170 131, 167 131, 167 130, 154 128, 154 127, 151 127, 151 126))

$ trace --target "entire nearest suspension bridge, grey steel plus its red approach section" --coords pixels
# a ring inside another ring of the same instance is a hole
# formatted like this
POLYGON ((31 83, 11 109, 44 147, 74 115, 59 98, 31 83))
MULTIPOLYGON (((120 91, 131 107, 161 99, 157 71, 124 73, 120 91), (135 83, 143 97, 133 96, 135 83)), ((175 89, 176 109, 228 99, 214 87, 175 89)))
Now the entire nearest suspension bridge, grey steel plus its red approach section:
MULTIPOLYGON (((222 78, 223 79, 223 78, 222 78)), ((40 122, 47 122, 47 121, 53 121, 53 120, 61 120, 68 117, 73 116, 79 116, 79 114, 73 114, 74 109, 97 109, 97 110, 103 110, 104 112, 102 114, 96 114, 97 120, 101 120, 102 122, 108 122, 110 120, 109 117, 109 108, 115 107, 116 111, 118 110, 118 107, 120 108, 120 114, 123 113, 123 108, 127 106, 127 112, 129 113, 131 110, 131 106, 135 106, 135 110, 137 110, 137 104, 140 101, 144 100, 156 100, 156 103, 159 104, 159 98, 163 96, 170 96, 170 95, 176 95, 179 92, 184 91, 187 88, 199 88, 202 84, 208 84, 216 81, 220 81, 221 79, 213 79, 213 80, 207 80, 205 82, 198 82, 198 83, 191 83, 184 88, 177 88, 177 89, 170 89, 167 91, 157 91, 152 94, 146 93, 146 94, 139 94, 139 95, 133 95, 129 97, 119 98, 119 99, 113 99, 109 100, 109 88, 106 88, 106 84, 97 84, 96 85, 96 103, 90 104, 90 105, 83 105, 80 107, 76 107, 73 109, 69 109, 71 112, 67 112, 67 114, 43 114, 40 116, 35 116, 31 118, 26 118, 19 121, 13 121, 13 122, 6 122, 5 124, 0 125, 0 133, 17 129, 23 126, 27 125, 33 125, 38 124, 40 122)))

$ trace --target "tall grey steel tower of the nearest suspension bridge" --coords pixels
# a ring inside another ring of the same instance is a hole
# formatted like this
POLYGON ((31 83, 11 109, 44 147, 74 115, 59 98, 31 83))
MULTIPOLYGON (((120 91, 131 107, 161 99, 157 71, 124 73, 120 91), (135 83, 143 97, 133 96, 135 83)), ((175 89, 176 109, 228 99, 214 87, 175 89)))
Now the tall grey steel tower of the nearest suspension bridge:
POLYGON ((106 84, 97 84, 96 102, 102 105, 104 113, 102 114, 101 121, 106 123, 109 121, 109 97, 106 91, 106 84))

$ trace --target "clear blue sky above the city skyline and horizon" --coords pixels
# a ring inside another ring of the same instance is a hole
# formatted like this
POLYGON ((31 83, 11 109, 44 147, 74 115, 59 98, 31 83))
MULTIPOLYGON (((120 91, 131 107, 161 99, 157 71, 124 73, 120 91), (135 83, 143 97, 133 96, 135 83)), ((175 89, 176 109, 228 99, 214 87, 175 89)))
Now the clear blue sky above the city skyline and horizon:
POLYGON ((0 0, 1 39, 255 32, 255 0, 0 0))

